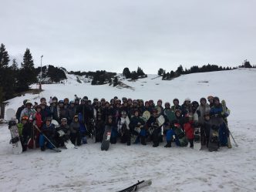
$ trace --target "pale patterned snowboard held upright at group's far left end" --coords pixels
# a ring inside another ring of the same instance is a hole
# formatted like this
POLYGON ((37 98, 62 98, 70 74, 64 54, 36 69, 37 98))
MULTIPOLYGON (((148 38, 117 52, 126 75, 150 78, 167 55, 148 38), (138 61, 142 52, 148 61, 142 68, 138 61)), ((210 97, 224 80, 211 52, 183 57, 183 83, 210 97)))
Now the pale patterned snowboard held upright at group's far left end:
POLYGON ((15 155, 19 155, 22 153, 22 143, 20 141, 19 130, 17 126, 17 120, 15 118, 15 110, 14 109, 7 109, 6 110, 7 120, 8 122, 8 129, 11 133, 11 140, 10 143, 12 144, 12 153, 15 155))

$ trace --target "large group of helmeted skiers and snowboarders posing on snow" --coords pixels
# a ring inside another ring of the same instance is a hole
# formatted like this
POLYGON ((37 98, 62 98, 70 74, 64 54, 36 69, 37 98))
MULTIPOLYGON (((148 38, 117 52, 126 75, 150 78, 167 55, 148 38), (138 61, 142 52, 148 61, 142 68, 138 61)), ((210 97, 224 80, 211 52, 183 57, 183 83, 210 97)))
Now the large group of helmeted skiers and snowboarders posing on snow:
POLYGON ((185 99, 181 105, 179 99, 173 99, 172 105, 163 105, 161 99, 154 103, 115 96, 108 102, 75 95, 73 100, 53 96, 49 102, 42 97, 40 104, 25 99, 16 118, 23 151, 34 144, 42 151, 46 147, 64 147, 67 140, 76 146, 87 143, 88 138, 102 142, 106 126, 111 127, 110 143, 120 141, 130 146, 152 142, 153 147, 158 147, 165 137, 164 147, 171 147, 174 142, 180 147, 190 143, 193 148, 195 127, 200 127, 202 147, 208 147, 213 127, 218 130, 219 145, 227 146, 229 113, 217 96, 203 97, 199 103, 185 99), (32 144, 31 139, 35 141, 32 144))

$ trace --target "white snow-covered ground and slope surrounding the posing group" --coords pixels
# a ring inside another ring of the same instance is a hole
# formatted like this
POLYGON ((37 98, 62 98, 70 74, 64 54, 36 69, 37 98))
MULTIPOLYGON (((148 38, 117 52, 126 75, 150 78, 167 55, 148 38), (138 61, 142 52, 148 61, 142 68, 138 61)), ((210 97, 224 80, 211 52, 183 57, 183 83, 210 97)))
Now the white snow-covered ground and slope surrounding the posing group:
MULTIPOLYGON (((28 150, 12 154, 6 125, 0 126, 0 191, 117 191, 136 180, 152 179, 153 184, 140 191, 256 191, 256 70, 236 69, 223 72, 194 73, 172 81, 149 75, 136 82, 123 81, 133 89, 91 86, 77 83, 69 76, 65 85, 43 85, 38 95, 26 94, 9 100, 6 107, 17 109, 23 99, 39 102, 39 97, 74 95, 89 99, 126 96, 133 99, 190 97, 199 100, 208 95, 219 96, 231 109, 230 130, 239 147, 221 148, 218 152, 190 148, 111 145, 101 151, 99 143, 54 153, 28 150)), ((231 141, 232 142, 232 141, 231 141)))

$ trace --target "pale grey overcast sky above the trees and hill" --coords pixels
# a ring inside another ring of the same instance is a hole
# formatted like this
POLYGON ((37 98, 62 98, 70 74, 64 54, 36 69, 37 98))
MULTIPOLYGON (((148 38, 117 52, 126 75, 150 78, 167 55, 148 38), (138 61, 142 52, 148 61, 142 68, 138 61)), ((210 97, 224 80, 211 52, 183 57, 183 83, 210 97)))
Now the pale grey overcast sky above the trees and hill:
POLYGON ((35 66, 123 72, 256 64, 254 0, 0 0, 0 43, 35 66))

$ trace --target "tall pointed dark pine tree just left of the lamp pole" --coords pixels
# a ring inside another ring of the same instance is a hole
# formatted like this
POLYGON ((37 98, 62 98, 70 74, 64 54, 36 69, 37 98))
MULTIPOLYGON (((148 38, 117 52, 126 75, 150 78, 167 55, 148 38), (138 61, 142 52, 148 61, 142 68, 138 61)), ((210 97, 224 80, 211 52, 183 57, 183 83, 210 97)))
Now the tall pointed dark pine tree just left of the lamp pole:
POLYGON ((34 62, 29 49, 25 50, 22 62, 22 68, 19 71, 18 76, 18 91, 26 91, 32 83, 36 83, 36 72, 34 68, 34 62))

